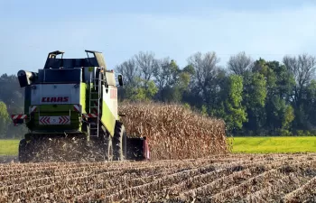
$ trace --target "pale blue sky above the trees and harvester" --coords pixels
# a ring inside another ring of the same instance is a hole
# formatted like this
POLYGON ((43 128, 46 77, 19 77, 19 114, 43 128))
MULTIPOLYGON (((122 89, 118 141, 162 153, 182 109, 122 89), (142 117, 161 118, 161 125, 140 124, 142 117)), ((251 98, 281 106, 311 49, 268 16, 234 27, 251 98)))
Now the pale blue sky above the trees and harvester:
POLYGON ((182 67, 196 51, 216 51, 223 66, 239 51, 316 55, 316 1, 0 0, 0 24, 0 74, 42 69, 56 50, 65 58, 102 51, 108 69, 138 51, 182 67))

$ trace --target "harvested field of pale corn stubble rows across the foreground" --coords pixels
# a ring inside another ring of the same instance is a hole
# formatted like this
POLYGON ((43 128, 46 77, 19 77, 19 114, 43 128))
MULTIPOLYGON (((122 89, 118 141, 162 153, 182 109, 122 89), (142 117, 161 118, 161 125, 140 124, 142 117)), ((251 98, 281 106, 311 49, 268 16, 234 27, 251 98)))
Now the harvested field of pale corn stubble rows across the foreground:
POLYGON ((316 154, 0 164, 0 202, 315 202, 316 154))

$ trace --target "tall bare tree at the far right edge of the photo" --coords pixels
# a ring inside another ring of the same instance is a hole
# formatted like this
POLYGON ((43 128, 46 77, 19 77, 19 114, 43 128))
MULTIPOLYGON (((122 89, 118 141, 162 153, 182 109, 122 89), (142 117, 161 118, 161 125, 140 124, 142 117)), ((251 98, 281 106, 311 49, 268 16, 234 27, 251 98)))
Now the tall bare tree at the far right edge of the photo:
POLYGON ((284 56, 283 63, 295 78, 294 101, 300 106, 303 88, 309 84, 316 69, 316 58, 306 53, 298 57, 284 56))

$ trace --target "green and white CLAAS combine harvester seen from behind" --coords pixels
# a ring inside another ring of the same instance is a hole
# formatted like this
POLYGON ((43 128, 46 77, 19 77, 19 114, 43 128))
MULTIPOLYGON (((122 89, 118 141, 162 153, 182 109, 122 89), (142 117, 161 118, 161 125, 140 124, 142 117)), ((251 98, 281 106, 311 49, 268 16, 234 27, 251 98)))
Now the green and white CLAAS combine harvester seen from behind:
MULTIPOLYGON (((12 119, 29 130, 20 141, 19 160, 148 160, 145 137, 128 137, 120 121, 115 74, 103 54, 86 51, 88 58, 63 59, 63 53, 50 52, 38 73, 17 73, 25 88, 24 114, 12 119)), ((122 75, 117 80, 123 86, 122 75)))

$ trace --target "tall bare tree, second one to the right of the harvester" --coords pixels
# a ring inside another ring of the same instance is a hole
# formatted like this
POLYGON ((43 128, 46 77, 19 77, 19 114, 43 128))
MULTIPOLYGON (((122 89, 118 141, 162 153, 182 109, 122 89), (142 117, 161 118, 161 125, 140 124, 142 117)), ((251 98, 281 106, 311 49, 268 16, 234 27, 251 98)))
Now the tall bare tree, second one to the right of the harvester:
POLYGON ((144 78, 145 88, 147 88, 147 82, 153 77, 153 73, 157 69, 157 60, 154 59, 154 53, 140 51, 135 55, 135 61, 144 78))

